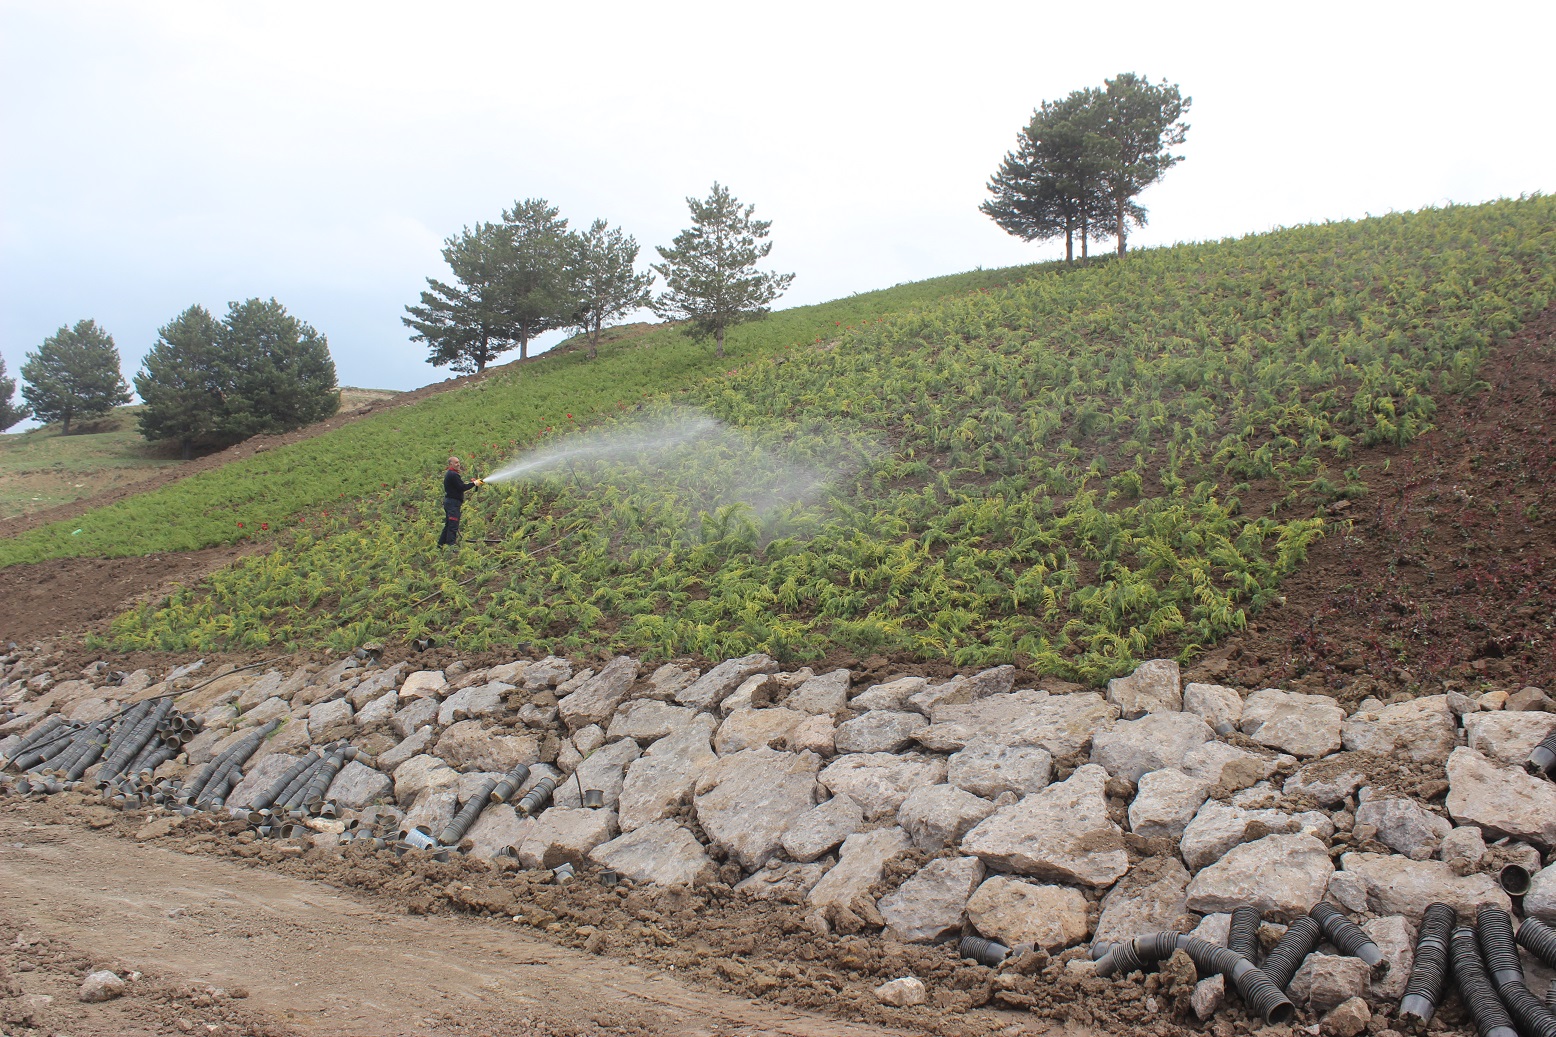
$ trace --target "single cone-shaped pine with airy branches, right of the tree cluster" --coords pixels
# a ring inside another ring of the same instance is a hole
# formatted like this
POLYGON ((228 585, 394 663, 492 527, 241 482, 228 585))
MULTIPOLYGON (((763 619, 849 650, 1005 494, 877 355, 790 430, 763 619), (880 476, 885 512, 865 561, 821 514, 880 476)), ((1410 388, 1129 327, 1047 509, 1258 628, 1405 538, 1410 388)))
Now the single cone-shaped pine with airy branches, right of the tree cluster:
POLYGON ((762 241, 772 221, 752 220, 756 206, 741 207, 730 188, 714 182, 705 201, 688 198, 692 226, 657 251, 664 260, 654 269, 664 277, 664 294, 654 299, 654 311, 671 321, 686 321, 692 338, 713 338, 714 355, 724 357, 724 333, 734 324, 769 313, 794 274, 756 269, 758 260, 772 252, 762 241))

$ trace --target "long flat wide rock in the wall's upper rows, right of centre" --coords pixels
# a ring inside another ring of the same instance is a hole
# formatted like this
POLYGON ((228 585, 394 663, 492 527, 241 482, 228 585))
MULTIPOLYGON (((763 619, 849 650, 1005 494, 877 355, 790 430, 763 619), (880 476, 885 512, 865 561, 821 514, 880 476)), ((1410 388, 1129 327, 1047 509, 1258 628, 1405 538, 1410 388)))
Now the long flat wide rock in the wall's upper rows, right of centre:
POLYGON ((955 752, 982 740, 1002 746, 1043 746, 1055 757, 1067 757, 1086 749, 1092 735, 1111 729, 1117 716, 1119 707, 1105 702, 1095 691, 1010 691, 937 707, 918 741, 937 752, 955 752))

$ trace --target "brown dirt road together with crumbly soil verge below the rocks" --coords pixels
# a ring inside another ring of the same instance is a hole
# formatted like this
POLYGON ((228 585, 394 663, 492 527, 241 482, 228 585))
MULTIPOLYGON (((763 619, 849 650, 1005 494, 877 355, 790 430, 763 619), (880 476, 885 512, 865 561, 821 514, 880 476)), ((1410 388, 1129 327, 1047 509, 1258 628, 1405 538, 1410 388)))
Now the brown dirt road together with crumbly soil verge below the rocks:
MULTIPOLYGON (((1092 1020, 1187 1032, 1151 1021, 1137 984, 1092 979, 1083 995, 1041 975, 997 981, 948 947, 820 947, 798 908, 734 909, 727 888, 537 884, 489 861, 241 842, 204 817, 165 828, 72 794, 0 807, 6 1025, 75 1037, 1081 1037, 1092 1020), (84 1004, 95 968, 140 978, 84 1004), (930 1004, 878 1004, 871 989, 907 973, 930 984, 930 1004)), ((1029 972, 1041 965, 1063 970, 1044 958, 1029 972)))

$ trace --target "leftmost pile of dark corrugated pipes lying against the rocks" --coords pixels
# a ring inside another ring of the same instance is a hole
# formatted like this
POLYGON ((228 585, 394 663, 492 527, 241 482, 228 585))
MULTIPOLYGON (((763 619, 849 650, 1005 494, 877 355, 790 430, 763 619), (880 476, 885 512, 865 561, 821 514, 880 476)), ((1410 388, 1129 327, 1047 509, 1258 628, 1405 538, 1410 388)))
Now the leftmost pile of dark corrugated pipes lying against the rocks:
POLYGON ((166 803, 173 793, 168 782, 154 782, 157 766, 166 763, 199 733, 201 722, 173 708, 171 698, 137 702, 112 716, 92 722, 67 721, 54 713, 26 733, 0 769, 22 777, 16 789, 58 793, 81 786, 96 765, 95 786, 103 802, 131 808, 166 803))

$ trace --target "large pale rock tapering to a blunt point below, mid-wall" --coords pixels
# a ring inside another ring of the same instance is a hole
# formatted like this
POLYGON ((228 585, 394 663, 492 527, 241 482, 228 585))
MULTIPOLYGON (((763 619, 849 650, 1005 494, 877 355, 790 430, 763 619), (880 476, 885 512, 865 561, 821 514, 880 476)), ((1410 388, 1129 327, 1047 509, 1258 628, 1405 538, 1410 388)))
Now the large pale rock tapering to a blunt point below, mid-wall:
POLYGON ((815 805, 820 766, 814 754, 767 746, 724 757, 697 779, 697 822, 745 870, 755 870, 778 852, 795 819, 815 805))

